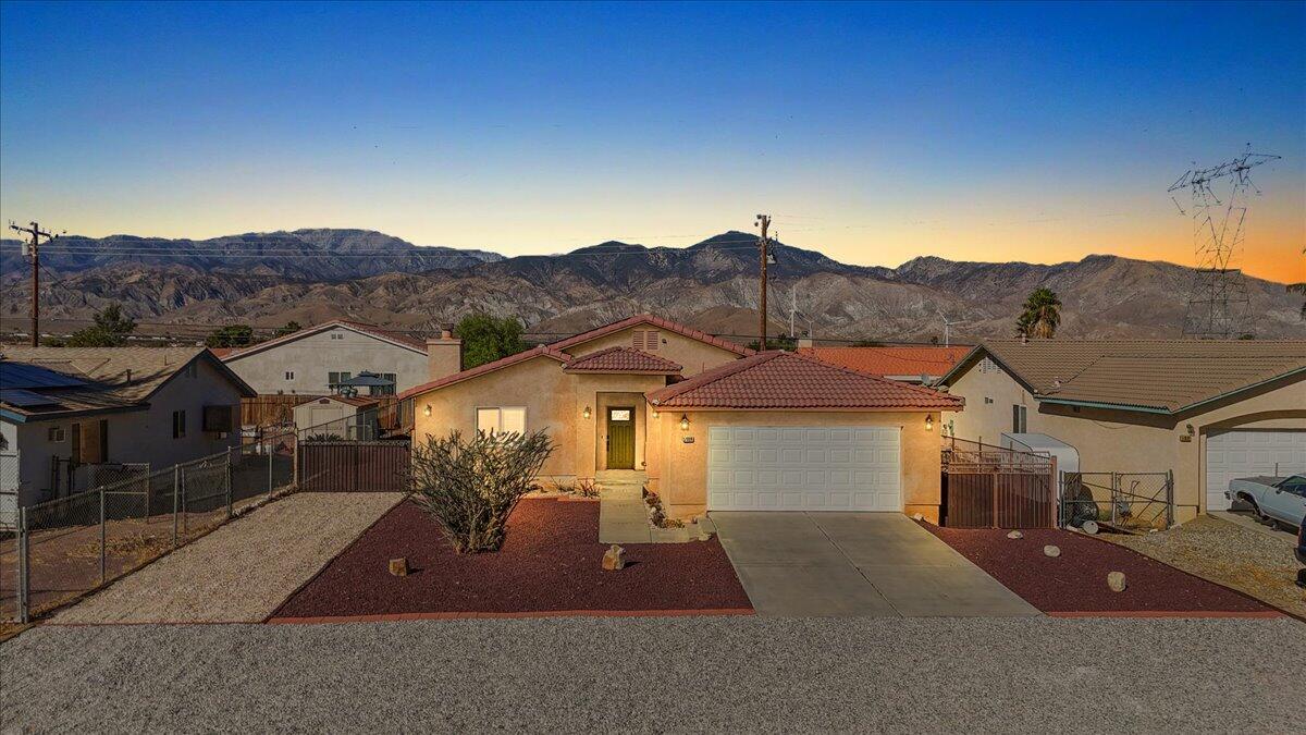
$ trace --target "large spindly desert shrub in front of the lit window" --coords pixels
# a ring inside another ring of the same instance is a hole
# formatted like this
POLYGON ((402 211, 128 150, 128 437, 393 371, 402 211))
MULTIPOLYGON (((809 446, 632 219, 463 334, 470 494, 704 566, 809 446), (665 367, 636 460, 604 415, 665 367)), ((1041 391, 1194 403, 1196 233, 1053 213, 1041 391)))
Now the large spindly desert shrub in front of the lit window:
POLYGON ((458 553, 498 551, 508 517, 554 453, 545 432, 427 436, 413 449, 413 500, 458 553))

